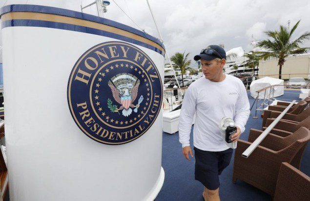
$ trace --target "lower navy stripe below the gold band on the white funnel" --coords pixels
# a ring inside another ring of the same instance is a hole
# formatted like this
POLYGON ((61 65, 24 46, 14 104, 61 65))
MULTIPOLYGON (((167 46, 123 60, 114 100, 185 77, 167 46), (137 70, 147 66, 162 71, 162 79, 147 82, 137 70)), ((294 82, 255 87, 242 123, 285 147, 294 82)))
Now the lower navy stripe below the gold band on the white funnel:
POLYGON ((53 21, 43 21, 43 20, 6 20, 2 22, 2 28, 10 27, 10 26, 35 26, 35 27, 47 27, 47 28, 56 28, 56 29, 63 29, 63 30, 70 30, 70 31, 78 31, 88 34, 95 34, 100 36, 105 36, 113 39, 123 40, 126 42, 130 42, 133 44, 141 45, 146 47, 150 50, 158 52, 159 54, 165 56, 163 51, 159 50, 158 48, 141 42, 139 40, 134 40, 122 35, 114 34, 107 31, 102 31, 99 29, 89 28, 85 26, 78 26, 74 24, 67 24, 67 23, 60 23, 60 22, 53 22, 53 21))

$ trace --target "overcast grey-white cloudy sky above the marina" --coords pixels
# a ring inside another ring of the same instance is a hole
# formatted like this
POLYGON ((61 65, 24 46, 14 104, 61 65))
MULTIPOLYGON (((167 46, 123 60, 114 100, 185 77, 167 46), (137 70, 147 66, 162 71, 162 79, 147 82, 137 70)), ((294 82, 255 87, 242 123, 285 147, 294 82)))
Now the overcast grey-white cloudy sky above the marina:
MULTIPOLYGON (((81 0, 0 0, 4 3, 40 4, 42 1, 80 8, 81 0)), ((93 0, 82 0, 83 6, 93 0)), ((115 20, 159 38, 146 0, 110 0, 105 18, 115 20), (117 4, 130 16, 135 25, 117 4)), ((189 52, 190 58, 209 44, 224 44, 225 49, 242 47, 250 51, 253 35, 264 40, 264 31, 280 24, 290 26, 301 20, 294 37, 310 31, 309 0, 149 0, 169 55, 189 52)), ((95 8, 85 12, 97 15, 95 8)), ((304 46, 310 46, 310 41, 304 46)), ((193 62, 194 65, 194 62, 193 62)))

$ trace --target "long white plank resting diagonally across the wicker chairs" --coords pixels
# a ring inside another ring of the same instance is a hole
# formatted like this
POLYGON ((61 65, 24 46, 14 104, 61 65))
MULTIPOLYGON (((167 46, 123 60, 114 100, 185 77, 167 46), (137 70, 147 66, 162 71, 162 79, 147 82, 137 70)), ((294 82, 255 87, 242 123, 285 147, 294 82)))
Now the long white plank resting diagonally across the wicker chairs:
POLYGON ((266 138, 269 132, 274 128, 274 126, 281 120, 281 118, 289 111, 289 108, 296 102, 296 100, 292 101, 287 108, 266 128, 266 130, 258 136, 258 138, 252 142, 251 145, 242 153, 244 158, 248 158, 251 153, 256 149, 256 147, 266 138))

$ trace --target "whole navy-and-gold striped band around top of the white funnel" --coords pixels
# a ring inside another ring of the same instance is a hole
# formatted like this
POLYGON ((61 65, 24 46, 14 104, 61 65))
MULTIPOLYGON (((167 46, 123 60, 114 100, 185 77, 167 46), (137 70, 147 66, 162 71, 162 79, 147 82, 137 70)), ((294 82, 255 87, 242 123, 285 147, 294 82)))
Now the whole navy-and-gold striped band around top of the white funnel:
POLYGON ((2 7, 0 17, 2 28, 35 26, 84 32, 134 43, 165 56, 164 44, 155 37, 119 22, 77 11, 15 4, 2 7))

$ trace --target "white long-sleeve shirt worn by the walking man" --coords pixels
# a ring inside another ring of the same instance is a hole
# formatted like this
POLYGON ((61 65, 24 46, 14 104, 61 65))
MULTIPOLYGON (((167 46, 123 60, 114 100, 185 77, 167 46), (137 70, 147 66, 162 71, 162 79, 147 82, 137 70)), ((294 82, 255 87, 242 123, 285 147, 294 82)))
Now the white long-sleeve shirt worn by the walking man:
POLYGON ((213 82, 202 77, 188 87, 179 118, 179 141, 189 146, 192 120, 194 146, 204 151, 224 151, 229 147, 220 133, 220 121, 230 117, 235 125, 245 131, 250 113, 248 95, 242 81, 231 75, 225 80, 213 82))

